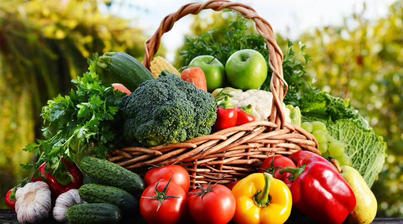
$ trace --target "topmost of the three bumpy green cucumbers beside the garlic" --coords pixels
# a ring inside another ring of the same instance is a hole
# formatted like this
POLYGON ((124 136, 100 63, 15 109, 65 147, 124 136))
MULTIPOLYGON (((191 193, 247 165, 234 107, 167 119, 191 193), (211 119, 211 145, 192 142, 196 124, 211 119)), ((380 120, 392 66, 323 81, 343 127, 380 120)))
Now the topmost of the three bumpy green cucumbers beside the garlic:
POLYGON ((81 169, 101 184, 123 189, 132 195, 141 194, 145 189, 139 175, 106 160, 85 157, 81 160, 81 169))

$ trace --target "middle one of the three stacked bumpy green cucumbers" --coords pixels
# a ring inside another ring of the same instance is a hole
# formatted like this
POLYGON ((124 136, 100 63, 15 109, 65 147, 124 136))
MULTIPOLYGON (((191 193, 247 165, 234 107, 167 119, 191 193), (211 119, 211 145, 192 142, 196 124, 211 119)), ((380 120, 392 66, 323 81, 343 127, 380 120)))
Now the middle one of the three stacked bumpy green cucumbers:
POLYGON ((79 189, 80 197, 88 203, 109 203, 116 205, 123 214, 139 209, 139 201, 126 191, 100 184, 85 184, 79 189))

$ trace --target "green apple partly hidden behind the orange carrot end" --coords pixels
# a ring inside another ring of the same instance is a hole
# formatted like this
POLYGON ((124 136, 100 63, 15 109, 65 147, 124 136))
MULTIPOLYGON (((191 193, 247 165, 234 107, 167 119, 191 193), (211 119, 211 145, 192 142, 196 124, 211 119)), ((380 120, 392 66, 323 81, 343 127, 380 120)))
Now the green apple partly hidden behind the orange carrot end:
POLYGON ((210 93, 217 88, 224 87, 225 68, 224 65, 211 55, 200 55, 193 58, 187 67, 199 67, 206 76, 207 91, 210 93))

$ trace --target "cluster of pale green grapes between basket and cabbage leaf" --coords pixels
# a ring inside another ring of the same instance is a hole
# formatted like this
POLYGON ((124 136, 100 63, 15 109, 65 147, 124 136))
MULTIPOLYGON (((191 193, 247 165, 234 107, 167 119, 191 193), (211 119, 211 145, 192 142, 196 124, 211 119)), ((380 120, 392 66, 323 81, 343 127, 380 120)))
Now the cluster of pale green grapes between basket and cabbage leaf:
POLYGON ((353 161, 345 153, 343 143, 328 134, 326 125, 320 121, 303 122, 301 127, 312 133, 319 143, 319 151, 322 157, 329 159, 329 157, 336 159, 340 166, 352 166, 353 161))

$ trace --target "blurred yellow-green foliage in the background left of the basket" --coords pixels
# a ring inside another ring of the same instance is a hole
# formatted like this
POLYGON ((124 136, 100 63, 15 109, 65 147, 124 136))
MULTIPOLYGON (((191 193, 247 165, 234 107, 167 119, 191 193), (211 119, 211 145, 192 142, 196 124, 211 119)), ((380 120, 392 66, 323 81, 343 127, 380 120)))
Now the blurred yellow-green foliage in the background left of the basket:
MULTIPOLYGON (((72 88, 92 53, 126 52, 140 61, 147 37, 130 20, 101 13, 102 1, 8 0, 0 4, 0 207, 27 175, 22 149, 43 138, 41 107, 72 88)), ((106 3, 109 5, 109 3, 106 3)), ((107 6, 108 6, 107 5, 107 6)), ((133 9, 136 11, 136 9, 133 9)), ((159 54, 164 53, 164 47, 159 54)), ((105 84, 117 81, 103 70, 105 84)))

